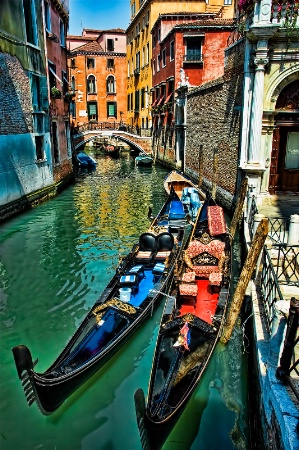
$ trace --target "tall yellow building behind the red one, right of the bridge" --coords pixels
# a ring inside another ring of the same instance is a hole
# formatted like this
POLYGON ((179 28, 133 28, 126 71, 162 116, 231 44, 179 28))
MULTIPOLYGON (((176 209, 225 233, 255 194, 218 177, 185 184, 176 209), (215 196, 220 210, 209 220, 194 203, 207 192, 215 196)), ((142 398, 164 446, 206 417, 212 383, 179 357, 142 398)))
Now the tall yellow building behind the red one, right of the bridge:
MULTIPOLYGON (((127 124, 137 132, 150 130, 152 88, 152 34, 160 14, 207 13, 233 18, 235 0, 130 0, 131 22, 127 34, 127 124)), ((169 30, 170 31, 170 30, 169 30)), ((163 39, 164 36, 161 36, 163 39)), ((143 132, 145 134, 145 131, 143 132)))

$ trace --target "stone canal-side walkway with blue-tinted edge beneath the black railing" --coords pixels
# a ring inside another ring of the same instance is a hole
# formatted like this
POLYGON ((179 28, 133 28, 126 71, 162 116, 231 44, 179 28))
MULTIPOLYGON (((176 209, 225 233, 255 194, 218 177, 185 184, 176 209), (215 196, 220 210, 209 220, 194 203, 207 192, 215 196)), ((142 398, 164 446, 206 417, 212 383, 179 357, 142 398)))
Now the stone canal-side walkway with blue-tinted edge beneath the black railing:
MULTIPOLYGON (((299 214, 299 195, 281 194, 259 199, 258 213, 268 218, 285 218, 299 214)), ((299 238, 299 235, 298 235, 299 238)), ((244 239, 249 248, 251 237, 248 223, 244 222, 244 239)), ((298 242, 299 243, 299 242, 298 242)), ((297 243, 297 245, 298 245, 297 243)), ((297 255, 298 262, 298 255, 297 255)), ((297 268, 298 270, 298 268, 297 268)), ((299 450, 299 401, 289 385, 284 385, 276 376, 284 348, 290 298, 299 300, 299 286, 284 286, 283 301, 276 303, 271 332, 268 331, 259 275, 251 281, 248 295, 251 297, 253 317, 253 354, 255 375, 254 386, 262 417, 261 433, 265 448, 276 450, 299 450), (259 393, 259 399, 258 395, 259 393)), ((298 330, 297 330, 298 335, 298 330)), ((295 361, 299 358, 298 344, 295 347, 295 361), (296 348, 297 347, 297 348, 296 348)), ((292 382, 299 392, 297 371, 292 371, 292 382)))

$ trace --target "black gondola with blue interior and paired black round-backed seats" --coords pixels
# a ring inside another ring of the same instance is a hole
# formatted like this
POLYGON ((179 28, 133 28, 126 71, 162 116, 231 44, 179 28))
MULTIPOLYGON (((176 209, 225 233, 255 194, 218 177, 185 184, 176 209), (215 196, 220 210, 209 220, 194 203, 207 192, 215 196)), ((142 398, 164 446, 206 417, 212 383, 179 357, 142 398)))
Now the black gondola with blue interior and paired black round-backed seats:
POLYGON ((118 266, 62 353, 44 373, 30 350, 12 349, 29 406, 53 413, 147 320, 167 292, 176 258, 190 236, 186 209, 172 190, 164 206, 118 266), (182 232, 183 231, 183 232, 182 232))

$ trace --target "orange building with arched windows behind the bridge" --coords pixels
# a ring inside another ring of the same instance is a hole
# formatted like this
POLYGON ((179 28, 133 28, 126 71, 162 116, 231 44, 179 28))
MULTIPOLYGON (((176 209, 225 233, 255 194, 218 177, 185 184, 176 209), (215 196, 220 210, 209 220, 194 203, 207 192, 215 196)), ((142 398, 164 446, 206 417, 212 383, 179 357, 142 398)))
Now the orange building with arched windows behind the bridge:
MULTIPOLYGON (((126 122, 126 35, 122 29, 68 36, 73 127, 126 122), (76 45, 76 47, 75 47, 76 45)), ((109 125, 108 125, 109 126, 109 125)))

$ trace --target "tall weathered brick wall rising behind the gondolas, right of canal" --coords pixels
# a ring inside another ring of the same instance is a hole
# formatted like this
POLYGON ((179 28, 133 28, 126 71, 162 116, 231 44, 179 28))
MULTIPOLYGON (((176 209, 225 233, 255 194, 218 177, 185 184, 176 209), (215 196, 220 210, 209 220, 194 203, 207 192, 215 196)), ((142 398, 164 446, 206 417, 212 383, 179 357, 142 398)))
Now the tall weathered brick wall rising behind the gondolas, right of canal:
POLYGON ((236 193, 238 181, 243 52, 243 43, 227 51, 224 76, 187 95, 186 172, 198 177, 202 145, 204 185, 211 189, 213 156, 217 150, 217 195, 224 196, 227 205, 236 193))

